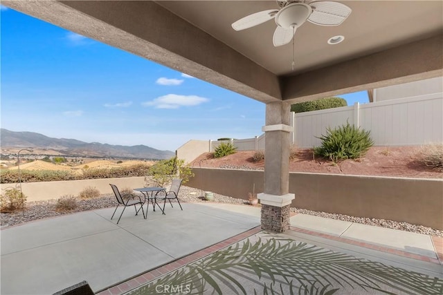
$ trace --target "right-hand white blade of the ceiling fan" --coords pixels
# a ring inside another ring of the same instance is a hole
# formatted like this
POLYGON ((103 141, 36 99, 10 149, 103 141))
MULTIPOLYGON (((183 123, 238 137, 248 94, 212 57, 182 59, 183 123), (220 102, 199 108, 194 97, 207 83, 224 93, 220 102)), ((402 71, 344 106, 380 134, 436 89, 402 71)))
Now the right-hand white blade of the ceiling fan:
POLYGON ((312 8, 312 13, 307 20, 319 26, 338 26, 352 12, 352 9, 345 4, 334 1, 311 2, 309 6, 312 8))

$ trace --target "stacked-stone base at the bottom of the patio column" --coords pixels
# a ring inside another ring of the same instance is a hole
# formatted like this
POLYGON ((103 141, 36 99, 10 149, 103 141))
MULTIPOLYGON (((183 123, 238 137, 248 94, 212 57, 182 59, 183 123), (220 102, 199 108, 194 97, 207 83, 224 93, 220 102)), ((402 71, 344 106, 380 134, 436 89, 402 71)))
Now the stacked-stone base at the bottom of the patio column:
POLYGON ((291 205, 275 207, 262 204, 262 229, 282 233, 289 229, 289 209, 291 205))

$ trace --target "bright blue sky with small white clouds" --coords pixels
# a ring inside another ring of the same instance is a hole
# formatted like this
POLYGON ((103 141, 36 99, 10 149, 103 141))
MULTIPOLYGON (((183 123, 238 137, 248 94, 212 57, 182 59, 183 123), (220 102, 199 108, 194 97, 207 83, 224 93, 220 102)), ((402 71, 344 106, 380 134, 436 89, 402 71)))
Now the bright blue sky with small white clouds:
MULTIPOLYGON (((365 92, 341 95, 348 105, 365 92)), ((265 105, 1 6, 1 128, 174 151, 262 134, 265 105)))

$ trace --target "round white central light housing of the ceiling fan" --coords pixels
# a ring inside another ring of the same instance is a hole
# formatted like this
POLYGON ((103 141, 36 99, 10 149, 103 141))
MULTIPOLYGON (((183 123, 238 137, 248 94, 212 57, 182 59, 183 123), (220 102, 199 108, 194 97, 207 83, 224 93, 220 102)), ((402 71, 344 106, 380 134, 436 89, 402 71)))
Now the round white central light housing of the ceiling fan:
POLYGON ((311 6, 305 3, 291 3, 275 15, 275 23, 282 28, 298 28, 311 13, 311 6))

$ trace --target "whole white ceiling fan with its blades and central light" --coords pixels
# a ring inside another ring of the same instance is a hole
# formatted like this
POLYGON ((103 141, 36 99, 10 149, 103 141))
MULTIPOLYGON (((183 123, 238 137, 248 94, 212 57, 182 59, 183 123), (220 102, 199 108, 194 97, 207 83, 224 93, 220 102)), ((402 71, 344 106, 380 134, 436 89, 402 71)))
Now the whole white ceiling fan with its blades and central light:
POLYGON ((234 30, 244 30, 275 19, 277 28, 273 35, 275 47, 288 44, 296 33, 296 29, 305 21, 318 26, 339 26, 351 14, 351 8, 334 1, 282 0, 277 1, 280 9, 255 12, 235 21, 234 30))

